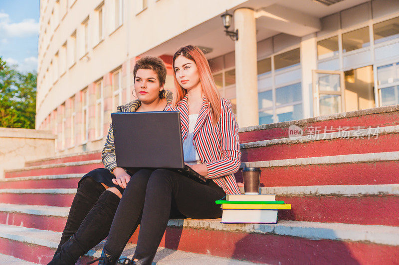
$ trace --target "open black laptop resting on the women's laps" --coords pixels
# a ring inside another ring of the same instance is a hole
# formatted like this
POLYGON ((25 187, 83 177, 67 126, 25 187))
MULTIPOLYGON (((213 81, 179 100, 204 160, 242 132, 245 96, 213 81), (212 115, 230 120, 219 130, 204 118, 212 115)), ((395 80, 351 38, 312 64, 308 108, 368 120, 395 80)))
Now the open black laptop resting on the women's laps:
POLYGON ((184 164, 179 111, 117 112, 111 119, 118 167, 170 169, 200 183, 208 181, 184 164))

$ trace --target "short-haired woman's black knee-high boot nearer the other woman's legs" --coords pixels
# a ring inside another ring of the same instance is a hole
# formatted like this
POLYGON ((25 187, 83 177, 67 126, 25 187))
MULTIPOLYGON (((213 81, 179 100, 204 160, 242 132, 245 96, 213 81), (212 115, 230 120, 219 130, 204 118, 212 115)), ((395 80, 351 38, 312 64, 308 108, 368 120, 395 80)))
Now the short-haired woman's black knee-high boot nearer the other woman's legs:
POLYGON ((104 238, 111 228, 120 198, 106 190, 83 220, 78 231, 61 247, 48 265, 73 265, 104 238))

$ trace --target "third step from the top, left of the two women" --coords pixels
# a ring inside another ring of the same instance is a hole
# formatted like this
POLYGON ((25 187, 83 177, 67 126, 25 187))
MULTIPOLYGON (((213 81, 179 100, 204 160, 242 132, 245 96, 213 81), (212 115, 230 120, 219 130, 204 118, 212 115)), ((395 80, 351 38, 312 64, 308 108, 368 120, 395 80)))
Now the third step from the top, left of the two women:
POLYGON ((9 177, 0 179, 0 189, 11 188, 77 188, 83 173, 64 175, 44 175, 34 177, 9 177))

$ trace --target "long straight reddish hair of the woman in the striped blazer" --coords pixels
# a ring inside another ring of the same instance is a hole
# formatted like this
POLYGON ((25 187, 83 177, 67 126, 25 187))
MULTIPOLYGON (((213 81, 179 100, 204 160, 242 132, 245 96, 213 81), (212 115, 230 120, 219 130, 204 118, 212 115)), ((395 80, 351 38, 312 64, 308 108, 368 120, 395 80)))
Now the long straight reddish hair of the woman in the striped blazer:
MULTIPOLYGON (((200 76, 202 92, 204 93, 205 98, 209 103, 212 123, 213 125, 216 125, 216 123, 219 121, 220 111, 221 111, 220 96, 219 96, 219 91, 217 90, 217 87, 213 80, 212 74, 210 72, 210 67, 208 61, 205 58, 205 55, 196 46, 188 45, 182 47, 173 56, 173 63, 172 63, 173 69, 175 69, 175 60, 180 55, 196 63, 198 75, 200 76)), ((176 79, 175 71, 173 71, 173 76, 175 79, 175 88, 176 88, 176 92, 173 93, 173 105, 176 106, 177 102, 179 102, 186 96, 187 89, 180 86, 178 80, 176 79)))

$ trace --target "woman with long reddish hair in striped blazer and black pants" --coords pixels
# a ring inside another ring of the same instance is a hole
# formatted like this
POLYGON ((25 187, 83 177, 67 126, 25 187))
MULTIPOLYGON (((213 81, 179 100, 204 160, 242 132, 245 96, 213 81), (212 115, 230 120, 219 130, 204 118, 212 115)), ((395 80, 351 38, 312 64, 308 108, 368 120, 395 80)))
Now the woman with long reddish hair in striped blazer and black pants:
POLYGON ((166 109, 180 111, 185 162, 209 182, 201 184, 166 169, 137 172, 126 186, 99 264, 116 263, 139 223, 129 264, 152 264, 170 217, 180 213, 194 219, 220 218, 215 200, 226 193, 240 194, 233 175, 241 157, 238 125, 230 102, 219 97, 199 48, 180 48, 173 67, 176 92, 166 109))

